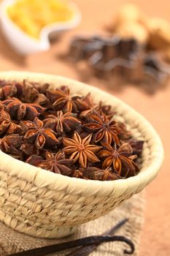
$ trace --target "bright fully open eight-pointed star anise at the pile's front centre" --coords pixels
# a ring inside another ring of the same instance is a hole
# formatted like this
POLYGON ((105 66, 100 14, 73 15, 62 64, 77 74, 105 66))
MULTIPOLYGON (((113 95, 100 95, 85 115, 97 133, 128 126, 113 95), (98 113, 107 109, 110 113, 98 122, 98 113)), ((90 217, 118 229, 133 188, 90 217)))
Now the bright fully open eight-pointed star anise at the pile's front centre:
POLYGON ((77 132, 74 132, 72 139, 63 138, 63 151, 66 154, 71 155, 70 159, 74 162, 79 162, 80 167, 87 167, 88 162, 99 162, 100 160, 94 153, 101 149, 101 146, 90 144, 92 135, 88 135, 85 138, 81 138, 77 132))

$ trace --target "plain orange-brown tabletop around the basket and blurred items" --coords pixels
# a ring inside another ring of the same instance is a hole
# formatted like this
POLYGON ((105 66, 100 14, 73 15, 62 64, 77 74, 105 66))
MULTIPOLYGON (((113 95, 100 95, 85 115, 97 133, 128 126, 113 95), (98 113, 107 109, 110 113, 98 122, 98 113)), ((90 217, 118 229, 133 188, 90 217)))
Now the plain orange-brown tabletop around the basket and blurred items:
MULTIPOLYGON (((125 1, 122 0, 75 0, 82 10, 82 23, 74 31, 63 34, 58 42, 54 42, 51 49, 44 53, 34 54, 23 58, 12 51, 6 40, 0 35, 0 70, 28 70, 64 75, 69 78, 80 79, 72 65, 61 61, 58 57, 66 53, 73 34, 79 31, 98 32, 114 19, 116 10, 125 1)), ((169 0, 162 1, 131 1, 139 5, 148 15, 169 17, 169 0)), ((17 39, 17 38, 16 38, 17 39)), ((88 72, 86 74, 88 76, 88 72)), ((166 152, 165 161, 158 178, 147 187, 147 203, 145 210, 145 224, 142 232, 140 256, 168 256, 170 255, 170 200, 169 200, 169 144, 170 144, 170 84, 166 89, 150 96, 136 86, 122 86, 113 89, 112 84, 90 79, 90 84, 101 87, 115 96, 123 99, 142 113, 157 129, 163 140, 166 152)))

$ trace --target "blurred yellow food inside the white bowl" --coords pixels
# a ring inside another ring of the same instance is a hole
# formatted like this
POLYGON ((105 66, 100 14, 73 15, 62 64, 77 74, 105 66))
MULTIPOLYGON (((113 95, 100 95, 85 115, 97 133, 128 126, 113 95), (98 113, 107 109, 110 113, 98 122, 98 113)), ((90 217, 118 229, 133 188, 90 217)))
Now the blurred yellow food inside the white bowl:
POLYGON ((7 13, 20 29, 35 38, 44 26, 71 20, 74 15, 66 0, 18 0, 7 13))

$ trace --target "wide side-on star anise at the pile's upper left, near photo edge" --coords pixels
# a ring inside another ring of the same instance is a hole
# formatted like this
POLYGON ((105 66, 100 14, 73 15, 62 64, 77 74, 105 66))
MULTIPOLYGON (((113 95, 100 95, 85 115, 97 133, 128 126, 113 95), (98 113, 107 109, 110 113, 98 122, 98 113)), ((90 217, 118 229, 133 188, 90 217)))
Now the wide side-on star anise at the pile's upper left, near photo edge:
POLYGON ((40 113, 45 111, 45 108, 42 108, 38 104, 34 103, 23 103, 19 99, 5 99, 1 102, 9 110, 9 114, 15 120, 27 119, 33 121, 36 116, 39 116, 40 113))

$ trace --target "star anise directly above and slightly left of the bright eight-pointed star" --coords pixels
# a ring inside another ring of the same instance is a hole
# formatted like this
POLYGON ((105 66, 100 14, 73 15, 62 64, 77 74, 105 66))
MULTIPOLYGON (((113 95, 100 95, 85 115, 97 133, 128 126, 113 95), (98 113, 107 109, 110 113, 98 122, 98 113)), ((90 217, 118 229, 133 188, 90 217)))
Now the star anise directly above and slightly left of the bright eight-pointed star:
POLYGON ((75 118, 72 113, 63 113, 62 111, 58 111, 56 116, 47 116, 43 122, 45 128, 51 128, 58 133, 62 133, 64 130, 66 132, 71 132, 80 124, 80 121, 75 118))

